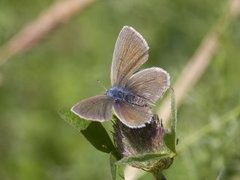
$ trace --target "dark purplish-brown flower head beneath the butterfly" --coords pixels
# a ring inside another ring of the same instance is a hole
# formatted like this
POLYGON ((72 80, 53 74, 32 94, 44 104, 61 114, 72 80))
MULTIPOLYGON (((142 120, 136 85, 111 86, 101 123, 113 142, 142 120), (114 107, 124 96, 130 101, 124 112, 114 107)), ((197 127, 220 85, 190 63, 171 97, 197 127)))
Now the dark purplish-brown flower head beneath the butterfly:
MULTIPOLYGON (((157 154, 166 149, 164 143, 166 130, 157 115, 154 115, 150 123, 147 123, 146 126, 142 128, 129 128, 116 117, 115 119, 113 137, 121 158, 157 154)), ((161 158, 160 160, 151 159, 144 162, 134 162, 130 165, 152 172, 168 168, 172 161, 173 159, 168 157, 161 158)))

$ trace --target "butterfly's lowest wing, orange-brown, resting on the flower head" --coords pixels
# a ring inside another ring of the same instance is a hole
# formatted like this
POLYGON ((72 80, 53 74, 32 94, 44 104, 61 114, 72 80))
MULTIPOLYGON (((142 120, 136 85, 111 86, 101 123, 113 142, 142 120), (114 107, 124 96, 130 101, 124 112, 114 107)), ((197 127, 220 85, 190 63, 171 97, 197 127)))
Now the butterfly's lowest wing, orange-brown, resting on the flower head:
POLYGON ((152 119, 152 112, 148 106, 132 105, 123 101, 113 104, 119 120, 128 127, 139 128, 145 126, 152 119))

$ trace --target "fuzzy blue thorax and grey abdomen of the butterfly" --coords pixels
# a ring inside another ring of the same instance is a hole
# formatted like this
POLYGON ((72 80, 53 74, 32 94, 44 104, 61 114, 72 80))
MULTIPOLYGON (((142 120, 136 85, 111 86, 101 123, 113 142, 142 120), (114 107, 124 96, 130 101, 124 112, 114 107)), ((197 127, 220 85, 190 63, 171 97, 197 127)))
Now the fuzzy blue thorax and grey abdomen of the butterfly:
POLYGON ((126 88, 112 87, 107 90, 106 95, 113 99, 114 103, 125 102, 132 106, 148 106, 146 99, 130 92, 126 88))

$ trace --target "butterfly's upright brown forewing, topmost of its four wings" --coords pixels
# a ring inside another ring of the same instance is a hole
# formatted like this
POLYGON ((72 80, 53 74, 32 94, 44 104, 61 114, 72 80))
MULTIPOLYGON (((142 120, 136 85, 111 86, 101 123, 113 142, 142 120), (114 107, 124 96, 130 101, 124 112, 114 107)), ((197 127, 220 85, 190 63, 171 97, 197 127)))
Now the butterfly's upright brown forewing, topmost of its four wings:
POLYGON ((112 59, 112 86, 123 86, 132 74, 148 59, 148 45, 132 27, 120 31, 112 59))

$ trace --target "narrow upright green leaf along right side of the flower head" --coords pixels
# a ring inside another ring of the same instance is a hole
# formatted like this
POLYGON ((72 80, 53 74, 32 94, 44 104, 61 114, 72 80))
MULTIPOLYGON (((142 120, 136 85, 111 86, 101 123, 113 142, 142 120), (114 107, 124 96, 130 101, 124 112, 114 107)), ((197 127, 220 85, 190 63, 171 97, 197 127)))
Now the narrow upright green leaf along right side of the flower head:
POLYGON ((166 146, 174 153, 176 153, 176 128, 177 128, 177 109, 175 102, 174 90, 171 88, 171 131, 164 136, 166 146))

